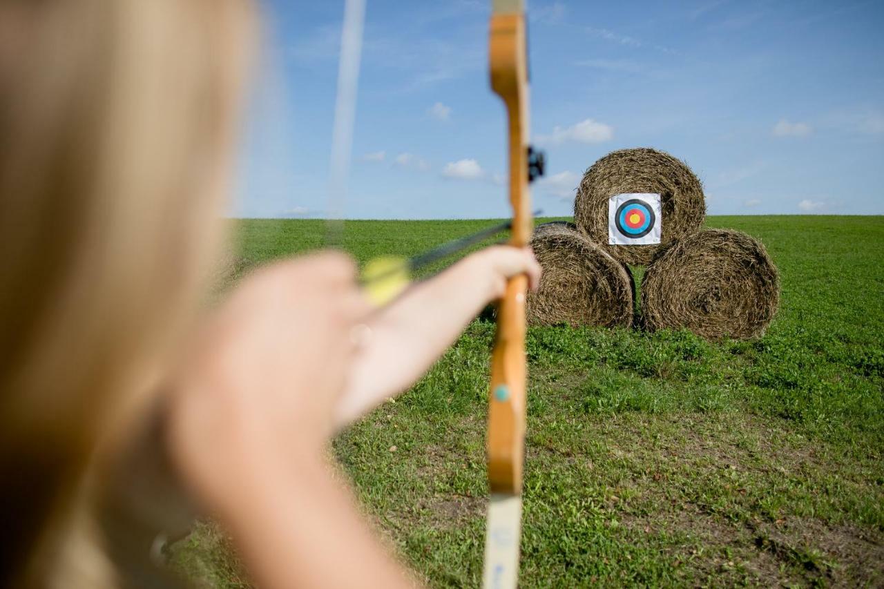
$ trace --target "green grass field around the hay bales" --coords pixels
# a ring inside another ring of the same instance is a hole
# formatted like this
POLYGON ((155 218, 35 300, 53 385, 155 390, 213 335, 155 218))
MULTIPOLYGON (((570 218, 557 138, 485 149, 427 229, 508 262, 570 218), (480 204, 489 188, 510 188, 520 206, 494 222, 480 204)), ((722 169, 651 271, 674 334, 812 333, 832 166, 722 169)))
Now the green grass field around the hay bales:
MULTIPOLYGON (((354 221, 360 261, 487 221, 354 221)), ((781 272, 760 340, 532 328, 521 585, 884 586, 884 218, 713 217, 781 272)), ((321 221, 240 223, 236 272, 323 243, 321 221)), ((636 269, 638 271, 638 269, 636 269)), ((335 441, 365 509, 433 586, 476 586, 494 325, 335 441)), ((172 561, 248 585, 201 524, 172 561)))

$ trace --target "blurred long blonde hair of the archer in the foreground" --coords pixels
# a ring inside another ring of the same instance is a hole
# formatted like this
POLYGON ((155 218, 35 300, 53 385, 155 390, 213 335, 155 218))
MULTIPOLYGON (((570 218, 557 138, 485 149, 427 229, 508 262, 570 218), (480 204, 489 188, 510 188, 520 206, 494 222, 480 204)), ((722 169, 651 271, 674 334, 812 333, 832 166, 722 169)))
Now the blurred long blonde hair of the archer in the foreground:
POLYGON ((0 0, 0 586, 121 582, 89 522, 200 300, 248 0, 0 0))

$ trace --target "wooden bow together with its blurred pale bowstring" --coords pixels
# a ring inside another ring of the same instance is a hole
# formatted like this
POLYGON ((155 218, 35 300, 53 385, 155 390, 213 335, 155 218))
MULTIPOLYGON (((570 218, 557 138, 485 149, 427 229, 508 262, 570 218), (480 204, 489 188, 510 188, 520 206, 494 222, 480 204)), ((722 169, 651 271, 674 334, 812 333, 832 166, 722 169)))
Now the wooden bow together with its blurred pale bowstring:
MULTIPOLYGON (((356 77, 362 46, 365 0, 347 0, 339 68, 339 100, 331 157, 331 212, 342 210, 352 146, 356 77)), ((534 227, 528 184, 543 175, 544 159, 528 145, 528 56, 525 0, 492 0, 490 65, 492 89, 507 107, 509 200, 516 247, 528 245, 534 227)), ((332 238, 340 221, 331 222, 332 238)), ((336 240, 332 239, 332 242, 336 240)), ((400 279, 400 282, 403 280, 400 279)), ((407 282, 407 280, 405 280, 407 282)), ((488 409, 488 482, 491 501, 485 539, 484 587, 512 589, 519 574, 522 536, 522 462, 525 447, 525 295, 528 277, 507 281, 499 302, 498 331, 492 353, 488 409)))

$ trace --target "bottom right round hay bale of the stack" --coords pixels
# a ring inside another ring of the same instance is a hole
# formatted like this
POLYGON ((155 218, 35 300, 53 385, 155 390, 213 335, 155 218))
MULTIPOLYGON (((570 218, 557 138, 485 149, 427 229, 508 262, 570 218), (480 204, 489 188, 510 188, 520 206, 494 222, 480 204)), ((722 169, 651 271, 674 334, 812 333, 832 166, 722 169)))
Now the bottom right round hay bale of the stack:
POLYGON ((644 272, 642 316, 653 331, 686 327, 707 340, 765 333, 780 303, 780 274, 765 247, 707 229, 661 250, 644 272))

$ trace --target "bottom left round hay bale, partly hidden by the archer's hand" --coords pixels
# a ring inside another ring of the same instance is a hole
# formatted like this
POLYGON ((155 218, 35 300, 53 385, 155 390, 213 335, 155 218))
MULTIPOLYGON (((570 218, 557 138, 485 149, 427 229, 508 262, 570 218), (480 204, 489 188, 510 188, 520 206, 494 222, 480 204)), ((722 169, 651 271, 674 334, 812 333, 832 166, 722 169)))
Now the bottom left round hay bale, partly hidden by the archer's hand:
POLYGON ((531 247, 544 274, 528 295, 530 325, 632 325, 629 272, 575 226, 539 226, 531 247))

